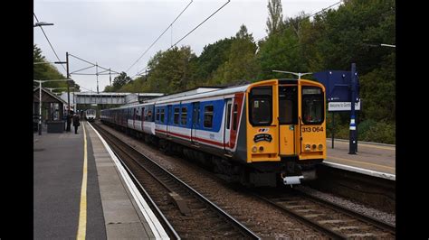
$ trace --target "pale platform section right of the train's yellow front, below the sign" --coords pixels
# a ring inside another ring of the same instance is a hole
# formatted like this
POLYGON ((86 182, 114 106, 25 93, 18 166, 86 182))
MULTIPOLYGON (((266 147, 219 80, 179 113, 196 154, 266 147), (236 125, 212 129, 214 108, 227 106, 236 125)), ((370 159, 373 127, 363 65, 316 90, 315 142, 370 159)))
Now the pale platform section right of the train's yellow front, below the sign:
POLYGON ((388 180, 396 180, 396 146, 382 143, 358 142, 358 152, 348 154, 348 140, 327 138, 329 167, 356 171, 388 180))

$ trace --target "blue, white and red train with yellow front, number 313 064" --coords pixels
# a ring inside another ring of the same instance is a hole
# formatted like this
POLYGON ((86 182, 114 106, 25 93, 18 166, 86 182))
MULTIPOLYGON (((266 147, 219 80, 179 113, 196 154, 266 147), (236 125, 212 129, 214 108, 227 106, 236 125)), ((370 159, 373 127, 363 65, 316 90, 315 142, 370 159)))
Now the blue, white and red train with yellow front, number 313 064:
POLYGON ((292 186, 326 159, 325 96, 319 82, 278 78, 103 109, 100 121, 244 185, 292 186))

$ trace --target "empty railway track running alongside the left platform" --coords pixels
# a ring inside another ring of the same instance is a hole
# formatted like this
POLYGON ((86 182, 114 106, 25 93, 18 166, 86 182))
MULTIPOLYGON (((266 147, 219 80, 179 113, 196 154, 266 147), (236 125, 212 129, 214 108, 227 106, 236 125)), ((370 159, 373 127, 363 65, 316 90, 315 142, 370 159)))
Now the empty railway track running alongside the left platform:
POLYGON ((94 127, 131 172, 148 202, 154 204, 151 208, 155 208, 158 218, 164 219, 163 225, 170 237, 259 239, 253 231, 157 162, 100 126, 94 127))

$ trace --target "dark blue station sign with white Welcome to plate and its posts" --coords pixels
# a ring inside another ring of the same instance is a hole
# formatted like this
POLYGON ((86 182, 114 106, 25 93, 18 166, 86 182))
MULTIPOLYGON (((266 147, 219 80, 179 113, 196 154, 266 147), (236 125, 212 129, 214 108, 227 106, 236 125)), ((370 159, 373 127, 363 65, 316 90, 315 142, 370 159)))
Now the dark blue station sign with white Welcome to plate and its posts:
POLYGON ((361 109, 356 63, 351 64, 351 71, 320 71, 314 73, 314 77, 326 88, 328 111, 332 112, 332 148, 334 148, 334 113, 350 111, 348 154, 356 154, 358 133, 355 112, 361 109))

